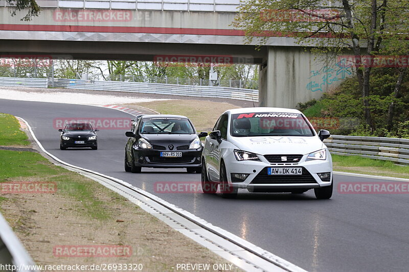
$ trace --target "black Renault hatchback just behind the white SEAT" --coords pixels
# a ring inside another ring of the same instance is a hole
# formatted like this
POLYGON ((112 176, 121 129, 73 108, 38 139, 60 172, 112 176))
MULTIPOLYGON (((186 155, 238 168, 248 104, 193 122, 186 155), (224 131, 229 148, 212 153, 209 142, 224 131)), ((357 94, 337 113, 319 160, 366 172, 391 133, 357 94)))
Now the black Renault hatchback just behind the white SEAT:
POLYGON ((139 173, 142 167, 187 168, 201 172, 202 144, 192 122, 180 115, 143 115, 125 135, 125 171, 139 173))

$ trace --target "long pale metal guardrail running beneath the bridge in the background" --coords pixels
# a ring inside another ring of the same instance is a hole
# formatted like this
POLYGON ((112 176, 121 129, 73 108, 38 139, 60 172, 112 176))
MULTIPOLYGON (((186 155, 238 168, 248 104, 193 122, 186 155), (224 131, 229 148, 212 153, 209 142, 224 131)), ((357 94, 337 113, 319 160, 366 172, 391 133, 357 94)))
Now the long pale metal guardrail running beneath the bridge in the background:
POLYGON ((259 101, 258 90, 230 87, 210 87, 121 81, 88 81, 74 79, 54 79, 54 87, 100 91, 170 94, 195 97, 230 98, 254 102, 259 101))

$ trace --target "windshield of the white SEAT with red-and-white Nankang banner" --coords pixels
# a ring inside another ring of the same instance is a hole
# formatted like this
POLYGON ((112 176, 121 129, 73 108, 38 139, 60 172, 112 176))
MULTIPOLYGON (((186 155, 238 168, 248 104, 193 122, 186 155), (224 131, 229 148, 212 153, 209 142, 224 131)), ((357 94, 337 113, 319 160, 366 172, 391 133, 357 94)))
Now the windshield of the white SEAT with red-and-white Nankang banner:
POLYGON ((286 112, 232 114, 231 134, 234 137, 314 135, 301 114, 286 112))

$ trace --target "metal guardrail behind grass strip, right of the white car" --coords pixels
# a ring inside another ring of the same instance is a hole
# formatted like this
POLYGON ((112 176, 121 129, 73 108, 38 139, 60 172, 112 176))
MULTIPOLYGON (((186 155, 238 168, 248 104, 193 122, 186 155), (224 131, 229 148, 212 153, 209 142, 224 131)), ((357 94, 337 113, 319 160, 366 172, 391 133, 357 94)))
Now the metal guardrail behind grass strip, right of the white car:
POLYGON ((409 139, 331 135, 324 143, 331 154, 409 165, 409 139))

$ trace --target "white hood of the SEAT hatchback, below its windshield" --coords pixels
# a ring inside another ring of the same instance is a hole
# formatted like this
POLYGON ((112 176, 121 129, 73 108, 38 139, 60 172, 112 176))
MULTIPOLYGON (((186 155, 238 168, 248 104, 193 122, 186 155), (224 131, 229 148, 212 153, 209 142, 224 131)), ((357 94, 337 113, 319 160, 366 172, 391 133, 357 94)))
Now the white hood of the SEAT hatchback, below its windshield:
POLYGON ((326 146, 317 137, 265 136, 231 137, 231 142, 240 150, 260 155, 267 154, 309 154, 326 146))

